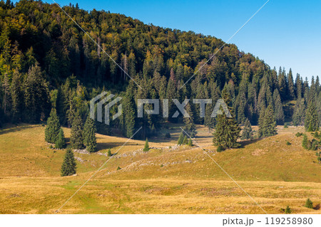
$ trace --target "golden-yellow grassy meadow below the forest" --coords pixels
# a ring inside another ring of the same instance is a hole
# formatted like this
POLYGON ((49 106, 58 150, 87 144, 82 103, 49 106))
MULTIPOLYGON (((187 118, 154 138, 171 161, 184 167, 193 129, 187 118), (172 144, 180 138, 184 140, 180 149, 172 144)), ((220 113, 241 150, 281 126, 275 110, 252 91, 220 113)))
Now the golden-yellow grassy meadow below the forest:
MULTIPOLYGON (((280 126, 274 137, 218 153, 213 132, 198 126, 196 141, 213 162, 199 147, 175 146, 179 126, 170 125, 171 139, 148 138, 150 152, 141 151, 145 141, 130 140, 59 213, 263 213, 215 162, 267 213, 286 206, 292 213, 321 213, 321 164, 295 137, 302 127, 280 126), (304 207, 307 198, 315 209, 304 207)), ((61 177, 65 150, 50 149, 44 129, 0 130, 0 213, 55 213, 108 160, 102 154, 127 140, 97 134, 98 153, 75 152, 77 176, 61 177)), ((68 140, 70 130, 63 130, 68 140)))

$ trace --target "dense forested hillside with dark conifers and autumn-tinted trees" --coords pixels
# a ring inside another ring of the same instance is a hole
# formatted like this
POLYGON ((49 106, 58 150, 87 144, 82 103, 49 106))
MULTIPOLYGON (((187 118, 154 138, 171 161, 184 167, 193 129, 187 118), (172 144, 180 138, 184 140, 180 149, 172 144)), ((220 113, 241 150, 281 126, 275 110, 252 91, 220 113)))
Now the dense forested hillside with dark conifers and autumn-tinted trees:
MULTIPOLYGON (((233 44, 218 51, 224 43, 212 36, 146 25, 109 11, 88 12, 78 4, 63 9, 103 51, 56 4, 0 2, 0 124, 46 122, 54 107, 61 125, 70 127, 77 114, 86 120, 88 100, 106 90, 123 97, 123 115, 109 126, 96 125, 98 132, 131 137, 143 126, 138 136, 153 136, 165 120, 183 119, 171 117, 176 111, 171 101, 168 119, 161 115, 138 118, 137 98, 177 98, 180 102, 185 97, 211 98, 215 103, 225 89, 240 125, 247 119, 257 125, 270 112, 278 125, 292 122, 311 125, 312 130, 318 127, 318 77, 309 85, 291 69, 272 69, 233 44)), ((194 123, 215 127, 210 117, 213 107, 207 105, 201 118, 199 104, 190 102, 186 110, 193 117, 185 122, 190 130, 194 123)))

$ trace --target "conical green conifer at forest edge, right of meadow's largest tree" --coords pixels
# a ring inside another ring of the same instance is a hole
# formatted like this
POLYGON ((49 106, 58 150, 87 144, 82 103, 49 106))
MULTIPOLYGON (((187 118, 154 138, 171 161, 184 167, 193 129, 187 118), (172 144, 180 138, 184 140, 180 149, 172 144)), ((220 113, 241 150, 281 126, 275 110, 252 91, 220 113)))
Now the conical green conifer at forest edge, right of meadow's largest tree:
POLYGON ((260 122, 259 125, 259 134, 260 137, 271 137, 277 134, 276 122, 274 118, 274 112, 272 105, 268 105, 264 112, 263 122, 260 122))

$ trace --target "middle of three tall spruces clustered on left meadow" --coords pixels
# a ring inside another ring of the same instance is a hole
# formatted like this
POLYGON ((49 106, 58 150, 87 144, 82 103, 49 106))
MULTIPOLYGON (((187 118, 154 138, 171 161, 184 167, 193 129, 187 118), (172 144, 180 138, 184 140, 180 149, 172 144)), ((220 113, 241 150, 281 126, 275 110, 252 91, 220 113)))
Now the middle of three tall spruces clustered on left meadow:
POLYGON ((83 149, 83 122, 78 112, 76 112, 71 125, 70 141, 73 149, 83 149))

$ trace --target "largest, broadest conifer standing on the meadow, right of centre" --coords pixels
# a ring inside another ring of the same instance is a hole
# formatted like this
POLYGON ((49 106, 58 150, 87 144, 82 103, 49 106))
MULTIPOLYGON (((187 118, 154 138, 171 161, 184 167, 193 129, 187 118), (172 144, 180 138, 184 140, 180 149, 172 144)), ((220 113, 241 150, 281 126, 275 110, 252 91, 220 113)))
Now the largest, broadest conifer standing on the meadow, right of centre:
POLYGON ((228 117, 223 112, 222 115, 218 115, 217 124, 215 127, 213 144, 215 146, 221 146, 223 149, 239 147, 237 142, 240 137, 240 126, 236 122, 233 116, 233 108, 230 107, 230 94, 226 88, 222 91, 222 97, 225 104, 228 105, 232 117, 228 117))

